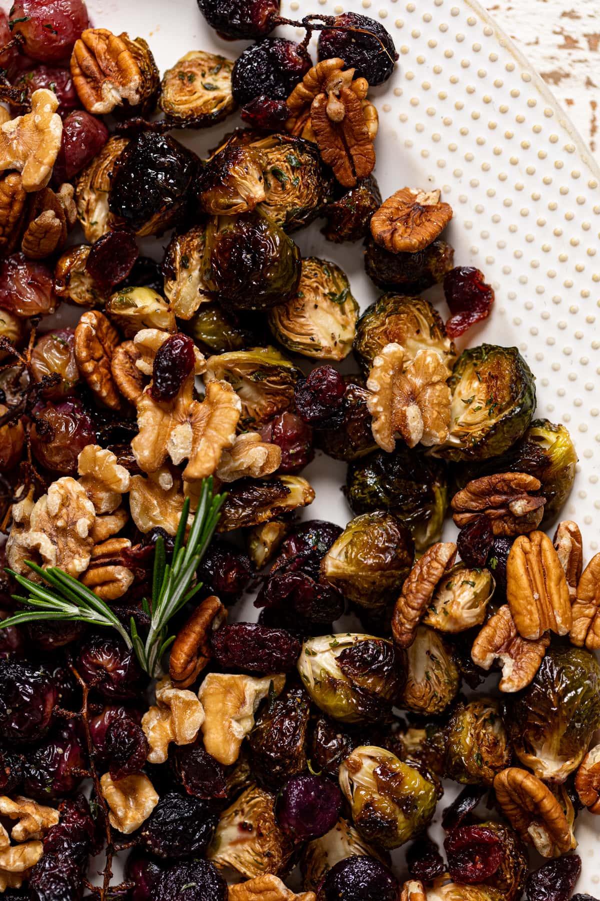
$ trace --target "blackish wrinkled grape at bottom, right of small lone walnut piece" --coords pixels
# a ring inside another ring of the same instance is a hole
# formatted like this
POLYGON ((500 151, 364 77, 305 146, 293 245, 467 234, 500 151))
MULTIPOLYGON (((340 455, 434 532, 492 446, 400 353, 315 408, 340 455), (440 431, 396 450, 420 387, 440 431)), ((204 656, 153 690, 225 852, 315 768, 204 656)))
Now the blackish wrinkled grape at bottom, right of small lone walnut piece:
POLYGON ((142 826, 141 842, 163 860, 193 857, 206 851, 218 822, 209 801, 167 792, 142 826))

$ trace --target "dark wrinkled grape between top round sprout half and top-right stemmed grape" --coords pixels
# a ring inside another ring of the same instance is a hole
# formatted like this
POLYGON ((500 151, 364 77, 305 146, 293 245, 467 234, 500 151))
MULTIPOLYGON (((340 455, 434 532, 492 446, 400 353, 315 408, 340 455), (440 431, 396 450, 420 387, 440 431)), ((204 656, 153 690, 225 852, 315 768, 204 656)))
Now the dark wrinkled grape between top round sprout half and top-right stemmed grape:
POLYGON ((231 73, 231 89, 237 104, 244 106, 256 97, 285 100, 309 71, 307 51, 285 38, 264 38, 246 47, 231 73))

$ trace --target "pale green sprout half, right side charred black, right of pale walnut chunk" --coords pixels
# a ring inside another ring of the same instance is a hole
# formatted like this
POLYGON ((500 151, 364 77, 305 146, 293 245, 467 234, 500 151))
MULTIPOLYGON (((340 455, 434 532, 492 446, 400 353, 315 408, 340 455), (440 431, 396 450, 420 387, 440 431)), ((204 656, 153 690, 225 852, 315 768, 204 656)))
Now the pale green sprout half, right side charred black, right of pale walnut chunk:
POLYGON ((343 723, 376 723, 390 715, 404 680, 393 643, 362 633, 309 639, 298 671, 315 704, 343 723))

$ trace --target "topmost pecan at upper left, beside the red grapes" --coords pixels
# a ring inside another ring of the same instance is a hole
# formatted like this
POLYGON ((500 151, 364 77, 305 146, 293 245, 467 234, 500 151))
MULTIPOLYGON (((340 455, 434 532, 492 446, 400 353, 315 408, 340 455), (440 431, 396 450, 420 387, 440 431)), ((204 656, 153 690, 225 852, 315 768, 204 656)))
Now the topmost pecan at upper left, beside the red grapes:
POLYGON ((158 71, 148 44, 106 28, 86 28, 75 42, 71 76, 88 113, 112 113, 115 106, 146 105, 157 92, 158 71))

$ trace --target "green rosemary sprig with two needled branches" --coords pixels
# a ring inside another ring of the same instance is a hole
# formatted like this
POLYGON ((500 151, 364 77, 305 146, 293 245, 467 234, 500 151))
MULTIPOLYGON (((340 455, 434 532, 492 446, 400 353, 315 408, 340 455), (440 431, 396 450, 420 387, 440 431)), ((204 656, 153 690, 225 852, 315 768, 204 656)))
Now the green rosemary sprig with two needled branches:
POLYGON ((144 598, 143 610, 150 617, 150 626, 146 640, 142 640, 133 617, 130 620, 130 633, 113 613, 111 607, 103 602, 93 591, 69 576, 63 569, 49 567, 41 569, 31 560, 29 566, 45 583, 32 582, 20 576, 12 569, 10 573, 20 586, 26 589, 27 596, 13 595, 16 601, 31 610, 20 610, 8 619, 0 621, 0 628, 20 623, 32 623, 36 620, 53 620, 55 622, 77 620, 94 626, 109 626, 121 635, 129 649, 133 648, 142 669, 149 676, 161 674, 160 661, 167 648, 175 641, 175 635, 168 636, 168 623, 201 589, 202 583, 194 584, 196 569, 210 544, 213 532, 219 522, 219 511, 226 495, 212 496, 212 478, 202 481, 200 499, 193 517, 192 528, 184 544, 185 527, 190 512, 190 498, 184 502, 184 509, 179 519, 175 546, 171 562, 166 562, 165 541, 157 539, 154 554, 154 571, 152 577, 152 597, 144 598))

